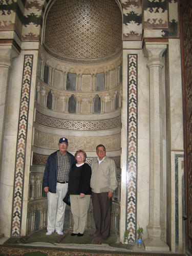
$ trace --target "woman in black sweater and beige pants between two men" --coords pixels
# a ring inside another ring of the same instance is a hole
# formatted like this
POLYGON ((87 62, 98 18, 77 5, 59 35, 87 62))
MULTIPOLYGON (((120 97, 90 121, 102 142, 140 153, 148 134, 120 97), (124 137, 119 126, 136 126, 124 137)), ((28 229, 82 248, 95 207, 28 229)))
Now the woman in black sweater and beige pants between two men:
POLYGON ((86 229, 87 215, 91 198, 91 166, 86 161, 87 154, 82 150, 75 153, 76 164, 69 175, 69 194, 74 226, 71 236, 82 237, 86 229))

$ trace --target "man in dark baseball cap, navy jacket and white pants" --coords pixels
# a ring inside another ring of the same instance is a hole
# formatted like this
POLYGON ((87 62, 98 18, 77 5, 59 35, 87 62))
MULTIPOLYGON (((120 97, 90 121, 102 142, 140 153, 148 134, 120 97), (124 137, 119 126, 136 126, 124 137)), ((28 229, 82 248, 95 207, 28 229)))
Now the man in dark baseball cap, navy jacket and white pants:
POLYGON ((74 156, 67 151, 68 139, 60 138, 59 150, 47 160, 42 187, 48 199, 47 235, 54 231, 63 234, 66 203, 63 202, 68 191, 69 173, 75 162, 74 156))

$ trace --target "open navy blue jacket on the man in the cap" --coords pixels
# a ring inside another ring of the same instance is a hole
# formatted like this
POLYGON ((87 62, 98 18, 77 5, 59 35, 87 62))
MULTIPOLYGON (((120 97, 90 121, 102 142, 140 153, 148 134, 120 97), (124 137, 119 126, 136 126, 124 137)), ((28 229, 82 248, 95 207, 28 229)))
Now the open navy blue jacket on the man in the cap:
MULTIPOLYGON (((57 152, 52 153, 47 160, 44 178, 42 179, 42 187, 49 187, 49 191, 51 193, 56 193, 56 185, 57 185, 57 152)), ((67 151, 70 161, 70 172, 72 169, 72 165, 75 163, 74 156, 67 151)))

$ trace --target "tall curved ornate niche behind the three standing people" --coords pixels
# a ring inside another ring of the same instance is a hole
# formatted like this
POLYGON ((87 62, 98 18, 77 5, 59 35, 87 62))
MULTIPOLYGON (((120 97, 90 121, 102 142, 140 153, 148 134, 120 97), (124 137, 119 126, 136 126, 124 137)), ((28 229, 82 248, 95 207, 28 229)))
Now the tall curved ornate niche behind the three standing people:
MULTIPOLYGON (((79 16, 82 1, 55 0, 46 7, 38 53, 38 100, 35 101, 30 177, 33 191, 37 187, 36 180, 42 183, 46 160, 57 150, 58 140, 63 134, 68 138, 69 152, 75 154, 81 148, 86 151, 89 164, 97 157, 96 146, 104 144, 108 156, 116 162, 118 181, 121 180, 122 13, 115 0, 85 2, 83 8, 87 11, 82 11, 79 16), (98 10, 105 12, 103 18, 98 10), (73 24, 70 25, 71 20, 73 24), (101 25, 97 31, 94 29, 96 25, 101 25), (52 109, 45 104, 45 100, 50 100, 50 92, 52 109)), ((111 229, 118 235, 120 186, 118 182, 113 198, 111 229)), ((27 232, 38 229, 39 223, 47 225, 45 209, 41 212, 42 202, 47 205, 47 199, 40 194, 34 193, 29 198, 27 232), (34 204, 39 204, 37 213, 34 204)), ((89 216, 88 228, 94 228, 92 208, 89 216)), ((70 208, 67 207, 65 227, 71 227, 72 223, 70 208)))

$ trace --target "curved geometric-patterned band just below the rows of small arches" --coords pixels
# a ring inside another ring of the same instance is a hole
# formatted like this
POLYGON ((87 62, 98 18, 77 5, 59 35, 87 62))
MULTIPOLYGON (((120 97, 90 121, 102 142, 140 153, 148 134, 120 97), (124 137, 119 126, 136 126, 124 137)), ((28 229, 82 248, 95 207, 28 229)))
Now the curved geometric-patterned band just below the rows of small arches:
POLYGON ((35 121, 39 124, 53 127, 55 129, 67 129, 77 131, 106 130, 121 126, 121 116, 99 121, 76 121, 46 116, 39 113, 38 111, 36 111, 35 121))

